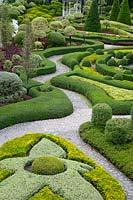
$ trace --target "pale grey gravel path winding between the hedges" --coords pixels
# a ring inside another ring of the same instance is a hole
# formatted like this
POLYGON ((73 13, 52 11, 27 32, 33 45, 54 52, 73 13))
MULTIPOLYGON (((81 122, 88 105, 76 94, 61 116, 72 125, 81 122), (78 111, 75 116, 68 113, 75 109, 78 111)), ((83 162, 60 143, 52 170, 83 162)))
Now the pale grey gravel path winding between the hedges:
MULTIPOLYGON (((56 62, 61 56, 53 56, 51 60, 56 62)), ((57 72, 46 76, 40 76, 34 78, 40 82, 49 80, 51 77, 69 71, 66 66, 57 63, 57 72)), ((45 132, 52 133, 54 135, 61 136, 68 139, 75 144, 81 151, 87 154, 100 164, 106 171, 113 175, 123 186, 127 196, 127 200, 133 200, 133 183, 118 169, 116 169, 110 162, 108 162, 102 155, 100 155, 95 149, 88 144, 85 144, 78 135, 79 126, 91 119, 91 109, 88 108, 84 101, 84 98, 77 93, 63 90, 67 96, 71 99, 74 112, 73 114, 60 118, 50 119, 35 122, 27 122, 16 124, 14 126, 0 130, 0 144, 5 141, 24 135, 27 132, 45 132)), ((117 200, 117 199, 116 199, 117 200)))

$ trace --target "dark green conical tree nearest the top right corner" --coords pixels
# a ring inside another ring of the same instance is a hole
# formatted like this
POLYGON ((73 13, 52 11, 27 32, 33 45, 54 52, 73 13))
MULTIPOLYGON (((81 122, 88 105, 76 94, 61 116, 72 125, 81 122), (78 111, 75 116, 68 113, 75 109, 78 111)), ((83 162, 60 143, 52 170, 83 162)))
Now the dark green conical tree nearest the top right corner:
POLYGON ((131 25, 131 16, 128 0, 123 0, 120 7, 120 12, 117 18, 118 22, 131 25))

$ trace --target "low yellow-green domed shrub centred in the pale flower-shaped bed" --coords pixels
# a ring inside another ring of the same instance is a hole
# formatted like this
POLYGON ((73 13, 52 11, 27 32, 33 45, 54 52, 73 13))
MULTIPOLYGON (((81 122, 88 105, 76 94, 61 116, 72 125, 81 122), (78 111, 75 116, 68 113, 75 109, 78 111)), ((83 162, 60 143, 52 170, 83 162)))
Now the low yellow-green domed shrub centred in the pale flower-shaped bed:
POLYGON ((33 161, 31 172, 40 175, 54 175, 65 171, 64 163, 52 156, 43 156, 33 161))

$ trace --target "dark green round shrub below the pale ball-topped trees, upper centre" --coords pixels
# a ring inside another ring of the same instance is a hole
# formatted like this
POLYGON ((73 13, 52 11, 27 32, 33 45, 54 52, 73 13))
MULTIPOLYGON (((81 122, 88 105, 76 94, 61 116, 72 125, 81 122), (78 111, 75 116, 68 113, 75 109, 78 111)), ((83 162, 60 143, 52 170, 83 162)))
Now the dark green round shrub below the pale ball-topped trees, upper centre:
POLYGON ((65 43, 65 37, 59 32, 50 32, 48 34, 48 43, 51 46, 63 46, 65 43))

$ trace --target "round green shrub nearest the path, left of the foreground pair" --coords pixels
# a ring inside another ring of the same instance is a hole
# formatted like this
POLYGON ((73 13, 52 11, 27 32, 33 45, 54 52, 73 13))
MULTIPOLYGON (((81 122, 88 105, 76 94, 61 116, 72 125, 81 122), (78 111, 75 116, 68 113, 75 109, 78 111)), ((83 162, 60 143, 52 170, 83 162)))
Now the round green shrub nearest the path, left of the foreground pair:
POLYGON ((112 108, 106 103, 96 104, 92 109, 91 122, 94 126, 104 127, 112 118, 112 108))

